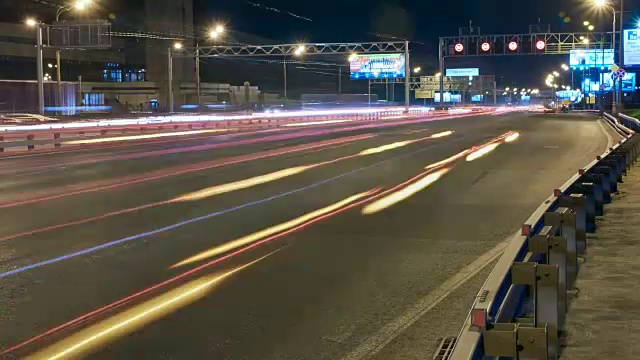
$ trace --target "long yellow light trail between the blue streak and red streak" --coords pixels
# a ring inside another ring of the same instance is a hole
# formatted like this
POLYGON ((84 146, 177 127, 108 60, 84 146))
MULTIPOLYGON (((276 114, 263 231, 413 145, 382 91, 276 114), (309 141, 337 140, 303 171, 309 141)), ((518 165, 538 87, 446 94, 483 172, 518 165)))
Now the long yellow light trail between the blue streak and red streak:
POLYGON ((327 207, 324 207, 322 209, 318 209, 315 211, 312 211, 310 213, 307 213, 305 215, 302 215, 298 218, 286 221, 284 223, 260 230, 258 232, 255 232, 253 234, 247 235, 247 236, 243 236, 239 239, 233 240, 233 241, 229 241, 227 243, 224 243, 222 245, 213 247, 209 250, 203 251, 200 254, 194 255, 190 258, 187 258, 183 261, 180 261, 179 263, 171 266, 171 268, 176 268, 176 267, 180 267, 180 266, 184 266, 187 264, 191 264, 197 261, 201 261, 210 257, 214 257, 220 254, 223 254, 225 252, 237 249, 239 247, 245 246, 245 245, 249 245, 251 243, 260 241, 261 239, 267 238, 271 235, 275 235, 277 233, 292 229, 296 226, 302 225, 310 220, 313 220, 315 218, 318 218, 320 216, 329 214, 333 211, 339 210, 342 207, 345 207, 355 201, 358 201, 366 196, 369 196, 371 194, 371 191, 367 191, 367 192, 362 192, 353 196, 350 196, 344 200, 341 200, 337 203, 334 203, 332 205, 329 205, 327 207))

